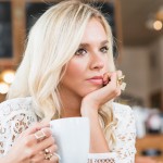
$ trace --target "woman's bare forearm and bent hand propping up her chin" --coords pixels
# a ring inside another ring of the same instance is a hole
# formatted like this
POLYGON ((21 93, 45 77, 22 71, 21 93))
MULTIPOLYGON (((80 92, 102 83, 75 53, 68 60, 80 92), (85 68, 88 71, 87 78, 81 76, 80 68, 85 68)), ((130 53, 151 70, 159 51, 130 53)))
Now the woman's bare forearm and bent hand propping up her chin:
POLYGON ((98 111, 108 101, 120 96, 121 88, 117 85, 117 72, 106 74, 108 85, 87 95, 82 102, 82 116, 90 121, 90 152, 109 152, 109 146, 99 122, 98 111))

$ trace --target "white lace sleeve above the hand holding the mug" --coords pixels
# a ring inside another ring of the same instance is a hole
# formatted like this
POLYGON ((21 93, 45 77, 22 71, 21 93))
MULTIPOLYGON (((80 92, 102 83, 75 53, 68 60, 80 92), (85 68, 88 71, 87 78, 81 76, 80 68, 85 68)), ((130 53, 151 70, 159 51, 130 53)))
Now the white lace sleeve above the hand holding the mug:
POLYGON ((28 101, 10 100, 0 104, 0 156, 5 155, 15 138, 37 122, 28 101))

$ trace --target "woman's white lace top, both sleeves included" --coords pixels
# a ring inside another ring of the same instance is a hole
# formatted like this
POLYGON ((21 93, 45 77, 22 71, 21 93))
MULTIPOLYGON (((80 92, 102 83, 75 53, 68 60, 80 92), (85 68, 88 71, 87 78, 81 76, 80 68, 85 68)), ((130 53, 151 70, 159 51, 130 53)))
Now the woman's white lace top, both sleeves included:
MULTIPOLYGON (((134 163, 135 117, 129 106, 114 103, 118 120, 115 128, 116 147, 109 153, 89 153, 88 163, 134 163)), ((15 138, 39 118, 32 109, 32 98, 17 98, 0 103, 0 156, 5 155, 15 138)))

